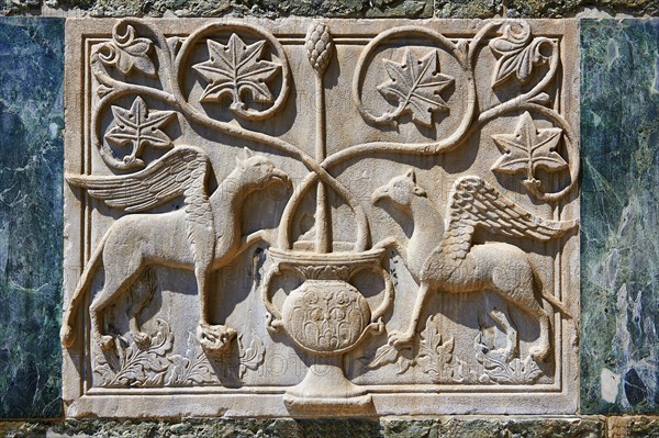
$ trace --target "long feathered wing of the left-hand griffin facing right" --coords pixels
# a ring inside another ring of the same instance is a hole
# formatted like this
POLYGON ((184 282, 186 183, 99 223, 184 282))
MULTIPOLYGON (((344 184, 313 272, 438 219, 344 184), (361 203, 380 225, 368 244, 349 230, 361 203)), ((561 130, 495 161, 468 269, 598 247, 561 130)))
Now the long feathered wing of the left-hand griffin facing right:
POLYGON ((205 178, 209 168, 209 157, 203 150, 181 146, 136 173, 112 177, 67 175, 66 180, 87 189, 92 198, 102 200, 108 206, 137 213, 181 194, 186 196, 186 205, 199 203, 200 195, 208 199, 205 178))

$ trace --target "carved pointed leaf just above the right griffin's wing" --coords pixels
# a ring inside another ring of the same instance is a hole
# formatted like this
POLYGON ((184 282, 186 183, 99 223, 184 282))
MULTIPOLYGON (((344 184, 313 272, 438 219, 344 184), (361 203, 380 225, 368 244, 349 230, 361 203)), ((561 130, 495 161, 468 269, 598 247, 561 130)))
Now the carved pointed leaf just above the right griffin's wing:
POLYGON ((513 134, 498 134, 492 138, 503 156, 494 162, 492 170, 502 173, 525 171, 528 180, 534 179, 537 168, 558 171, 568 167, 556 151, 562 130, 548 127, 538 130, 528 112, 525 112, 513 134))

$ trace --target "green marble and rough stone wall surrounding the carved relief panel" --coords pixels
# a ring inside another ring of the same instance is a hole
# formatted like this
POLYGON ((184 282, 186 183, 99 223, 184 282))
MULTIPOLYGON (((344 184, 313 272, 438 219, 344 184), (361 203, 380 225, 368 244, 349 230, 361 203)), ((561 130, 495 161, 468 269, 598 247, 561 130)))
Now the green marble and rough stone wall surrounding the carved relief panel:
POLYGON ((0 436, 659 437, 659 19, 588 18, 659 15, 657 1, 5 0, 0 14, 37 15, 0 20, 0 436), (40 16, 88 15, 582 16, 579 414, 62 419, 64 21, 40 16))

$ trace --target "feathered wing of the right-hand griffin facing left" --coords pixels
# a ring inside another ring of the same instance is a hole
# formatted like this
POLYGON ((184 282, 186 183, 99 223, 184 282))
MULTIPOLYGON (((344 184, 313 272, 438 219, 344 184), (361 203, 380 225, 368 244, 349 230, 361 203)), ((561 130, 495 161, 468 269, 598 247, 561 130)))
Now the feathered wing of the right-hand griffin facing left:
POLYGON ((535 216, 479 177, 456 180, 446 209, 443 250, 453 259, 467 257, 479 226, 503 236, 546 242, 579 224, 577 220, 550 221, 535 216))

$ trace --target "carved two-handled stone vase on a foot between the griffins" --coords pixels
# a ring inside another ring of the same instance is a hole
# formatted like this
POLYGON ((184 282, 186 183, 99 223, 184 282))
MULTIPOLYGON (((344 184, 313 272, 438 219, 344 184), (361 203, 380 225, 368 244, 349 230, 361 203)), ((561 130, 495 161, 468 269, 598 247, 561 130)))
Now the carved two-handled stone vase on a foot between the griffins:
POLYGON ((273 267, 264 284, 264 301, 271 314, 269 328, 283 329, 313 361, 302 382, 286 392, 284 404, 291 411, 305 412, 368 408, 371 396, 346 379, 343 356, 370 332, 383 328, 381 317, 393 300, 391 279, 380 265, 384 251, 315 254, 270 248, 270 254, 273 267), (269 284, 284 270, 305 280, 279 310, 270 301, 269 284), (375 271, 384 280, 383 300, 373 311, 349 282, 362 270, 375 271))

